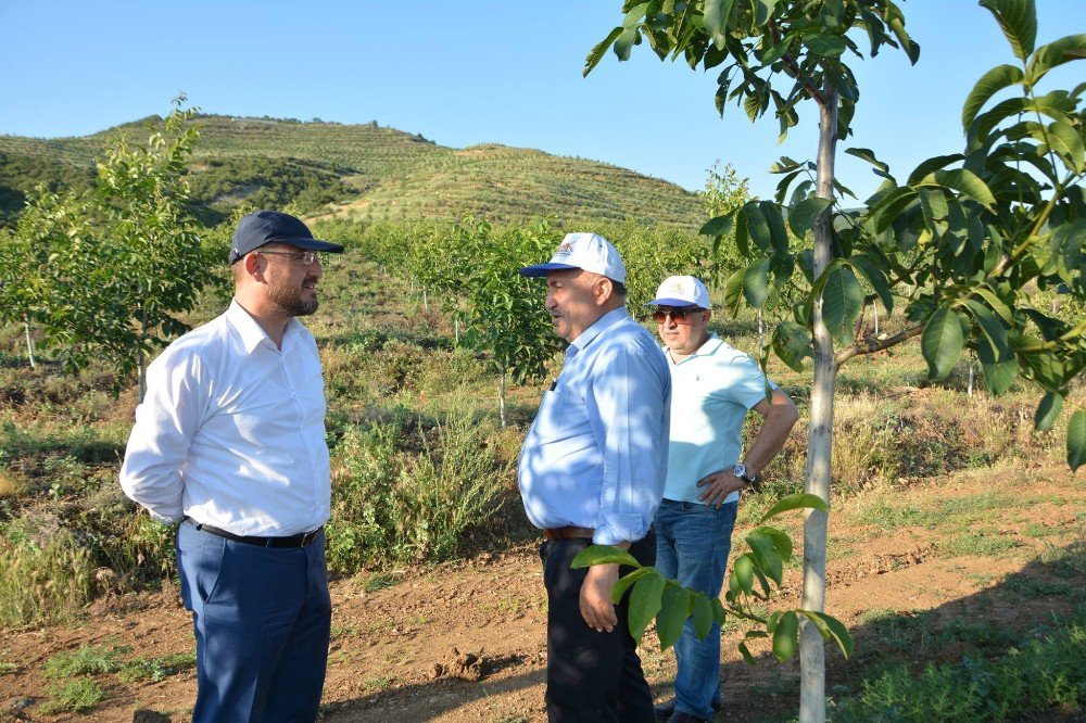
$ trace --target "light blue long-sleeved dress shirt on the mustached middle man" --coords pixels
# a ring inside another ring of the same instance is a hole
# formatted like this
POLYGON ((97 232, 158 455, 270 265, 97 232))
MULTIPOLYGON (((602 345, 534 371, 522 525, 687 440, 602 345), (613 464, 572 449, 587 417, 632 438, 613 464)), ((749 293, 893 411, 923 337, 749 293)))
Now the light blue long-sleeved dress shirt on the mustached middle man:
POLYGON ((644 537, 664 495, 670 409, 667 359, 624 308, 585 329, 520 451, 532 524, 593 528, 601 545, 644 537))

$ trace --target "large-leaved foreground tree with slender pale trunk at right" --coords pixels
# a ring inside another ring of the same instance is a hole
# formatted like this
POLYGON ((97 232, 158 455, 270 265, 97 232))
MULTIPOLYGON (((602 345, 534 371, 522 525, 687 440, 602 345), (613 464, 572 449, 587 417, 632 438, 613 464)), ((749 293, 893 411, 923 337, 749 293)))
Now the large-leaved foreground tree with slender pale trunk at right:
MULTIPOLYGON (((796 124, 799 101, 818 106, 817 162, 783 158, 774 167, 784 175, 775 202, 747 203, 710 220, 703 232, 719 239, 734 231, 747 259, 729 283, 736 302, 762 308, 787 289, 798 289, 804 297, 791 309, 794 320, 775 330, 771 348, 797 369, 804 358, 815 359, 806 487, 826 502, 835 379, 848 359, 922 337, 931 373, 942 377, 964 347, 974 348, 993 392, 1006 391, 1019 375, 1046 391, 1037 411, 1039 429, 1055 423, 1071 381, 1086 364, 1086 322, 1046 315, 1023 293, 1026 284, 1062 283, 1083 294, 1083 86, 1039 96, 1036 85, 1051 67, 1084 56, 1086 36, 1035 49, 1032 0, 985 0, 982 5, 1007 35, 1019 65, 989 71, 970 93, 962 114, 965 151, 924 162, 906 183, 898 185, 871 151, 848 151, 875 164, 886 178, 862 214, 836 205, 837 194, 847 189, 834 178, 835 145, 849 134, 859 99, 841 59, 846 52, 859 55, 848 36, 859 29, 872 55, 891 45, 917 61, 919 48, 889 0, 627 2, 623 24, 588 59, 585 72, 607 48, 614 46, 626 60, 633 45, 647 40, 661 59, 683 56, 692 68, 727 63, 718 79, 718 109, 735 100, 754 120, 772 107, 782 136, 796 124), (773 86, 780 76, 791 85, 783 94, 773 86), (980 113, 995 93, 1012 87, 1022 91, 1020 98, 980 113), (797 253, 788 228, 799 237, 813 229, 813 251, 797 253), (876 299, 891 312, 901 297, 909 328, 892 337, 856 339, 866 302, 876 299), (841 348, 835 351, 835 344, 841 348)), ((1078 410, 1069 426, 1071 467, 1082 465, 1084 455, 1086 413, 1078 410)), ((804 533, 805 610, 824 606, 825 533, 826 511, 810 510, 804 533)), ((825 716, 819 632, 804 621, 803 721, 825 716)))

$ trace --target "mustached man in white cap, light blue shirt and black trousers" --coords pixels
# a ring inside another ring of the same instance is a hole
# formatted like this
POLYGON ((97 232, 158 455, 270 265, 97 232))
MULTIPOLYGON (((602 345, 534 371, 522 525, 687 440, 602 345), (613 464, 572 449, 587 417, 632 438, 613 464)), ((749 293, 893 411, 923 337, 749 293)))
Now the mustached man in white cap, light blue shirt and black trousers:
POLYGON ((651 525, 667 473, 667 362, 627 313, 626 267, 603 237, 569 233, 550 263, 520 274, 546 277, 547 312, 569 342, 518 470, 528 519, 545 537, 547 718, 649 722, 653 697, 630 635, 629 597, 618 606, 610 599, 619 566, 569 566, 593 543, 654 562, 651 525))

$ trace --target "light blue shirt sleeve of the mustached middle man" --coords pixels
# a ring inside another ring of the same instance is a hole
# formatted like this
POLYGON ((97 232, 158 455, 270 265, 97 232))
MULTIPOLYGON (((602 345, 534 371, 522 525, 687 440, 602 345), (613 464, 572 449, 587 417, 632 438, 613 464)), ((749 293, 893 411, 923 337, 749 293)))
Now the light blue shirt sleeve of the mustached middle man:
POLYGON ((647 356, 655 351, 618 348, 594 369, 586 403, 604 456, 599 545, 644 537, 664 496, 671 386, 647 356))

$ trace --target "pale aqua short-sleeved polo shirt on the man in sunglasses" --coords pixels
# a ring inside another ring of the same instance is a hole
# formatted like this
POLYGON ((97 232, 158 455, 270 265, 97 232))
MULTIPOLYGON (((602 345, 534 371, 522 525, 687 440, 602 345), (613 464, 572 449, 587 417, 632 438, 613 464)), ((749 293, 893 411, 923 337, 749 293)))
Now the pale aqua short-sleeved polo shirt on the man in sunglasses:
MULTIPOLYGON (((698 480, 731 469, 743 451, 743 419, 766 398, 766 376, 717 334, 671 369, 671 436, 665 499, 700 503, 698 480)), ((770 382, 771 389, 776 385, 770 382)), ((740 498, 733 492, 725 503, 740 498)))

